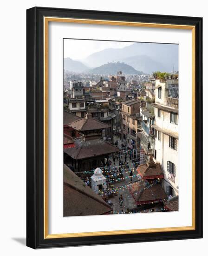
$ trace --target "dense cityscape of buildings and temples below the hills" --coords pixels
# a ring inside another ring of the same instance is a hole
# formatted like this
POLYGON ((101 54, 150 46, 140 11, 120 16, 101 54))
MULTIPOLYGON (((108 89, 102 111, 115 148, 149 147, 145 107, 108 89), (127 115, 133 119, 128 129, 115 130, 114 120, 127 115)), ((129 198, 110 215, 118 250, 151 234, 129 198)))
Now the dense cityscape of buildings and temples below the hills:
POLYGON ((178 72, 64 71, 64 216, 178 211, 178 72))

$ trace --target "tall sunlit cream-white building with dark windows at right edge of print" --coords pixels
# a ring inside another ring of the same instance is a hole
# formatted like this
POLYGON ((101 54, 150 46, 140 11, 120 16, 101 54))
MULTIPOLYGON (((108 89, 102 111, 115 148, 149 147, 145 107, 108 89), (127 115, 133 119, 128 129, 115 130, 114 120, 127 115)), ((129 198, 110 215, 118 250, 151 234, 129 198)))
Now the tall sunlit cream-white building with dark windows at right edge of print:
POLYGON ((163 188, 167 195, 178 195, 178 80, 156 79, 154 107, 155 150, 154 158, 164 172, 163 188))

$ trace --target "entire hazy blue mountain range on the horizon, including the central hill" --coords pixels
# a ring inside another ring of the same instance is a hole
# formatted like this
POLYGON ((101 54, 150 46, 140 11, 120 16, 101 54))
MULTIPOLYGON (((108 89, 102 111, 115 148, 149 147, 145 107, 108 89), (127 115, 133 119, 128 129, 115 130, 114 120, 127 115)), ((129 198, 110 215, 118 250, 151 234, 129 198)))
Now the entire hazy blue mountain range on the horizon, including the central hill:
MULTIPOLYGON (((64 59, 64 68, 74 72, 92 73, 104 72, 100 74, 114 73, 109 70, 109 67, 115 68, 115 65, 109 62, 124 62, 131 66, 127 68, 129 72, 138 72, 137 70, 151 74, 154 71, 171 72, 178 70, 178 45, 176 44, 160 44, 160 43, 134 43, 123 48, 106 48, 102 51, 95 52, 82 60, 72 60, 70 58, 64 59), (107 63, 107 64, 106 64, 107 63), (131 70, 131 71, 130 71, 131 70)), ((118 67, 117 67, 118 68, 118 67)), ((124 66, 123 66, 124 68, 124 66)), ((116 70, 117 73, 118 69, 116 70)), ((122 70, 121 70, 122 71, 122 70)), ((115 74, 116 74, 115 73, 115 74)), ((123 73, 125 73, 123 71, 123 73)), ((138 74, 138 73, 134 73, 138 74)))

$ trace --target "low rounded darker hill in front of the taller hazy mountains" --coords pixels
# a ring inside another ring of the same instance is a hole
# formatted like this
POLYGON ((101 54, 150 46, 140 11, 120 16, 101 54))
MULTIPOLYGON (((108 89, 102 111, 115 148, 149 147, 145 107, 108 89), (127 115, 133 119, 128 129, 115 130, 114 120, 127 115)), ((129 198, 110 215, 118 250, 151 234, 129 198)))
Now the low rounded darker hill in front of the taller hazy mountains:
POLYGON ((117 74, 117 71, 122 71, 123 74, 143 74, 141 71, 137 71, 130 65, 121 62, 111 62, 100 67, 91 69, 88 73, 91 74, 117 74))

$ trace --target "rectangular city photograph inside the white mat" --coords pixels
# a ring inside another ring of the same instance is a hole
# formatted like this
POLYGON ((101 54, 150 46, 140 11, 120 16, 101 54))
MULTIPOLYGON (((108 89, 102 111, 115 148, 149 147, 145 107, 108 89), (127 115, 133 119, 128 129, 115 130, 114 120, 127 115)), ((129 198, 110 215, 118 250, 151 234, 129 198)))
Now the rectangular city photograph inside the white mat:
POLYGON ((64 217, 180 211, 178 53, 63 39, 64 217))

